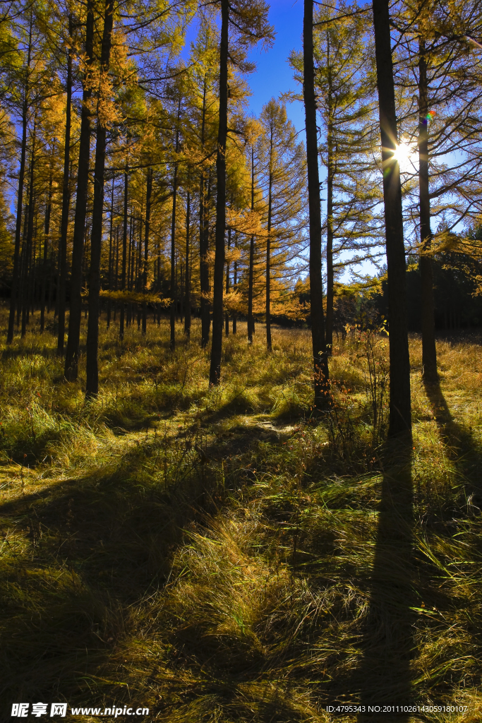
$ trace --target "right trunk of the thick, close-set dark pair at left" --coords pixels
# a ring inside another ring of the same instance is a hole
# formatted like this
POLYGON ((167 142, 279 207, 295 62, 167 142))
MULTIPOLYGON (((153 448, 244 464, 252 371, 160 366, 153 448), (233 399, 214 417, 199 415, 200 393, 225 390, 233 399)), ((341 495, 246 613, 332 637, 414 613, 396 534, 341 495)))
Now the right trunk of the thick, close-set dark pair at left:
MULTIPOLYGON (((106 0, 106 14, 102 48, 100 51, 100 73, 107 75, 111 59, 113 27, 113 0, 106 0)), ((104 200, 104 168, 106 165, 106 126, 100 117, 97 119, 97 137, 95 142, 94 206, 92 209, 92 236, 90 237, 90 274, 89 274, 89 319, 87 323, 87 384, 86 398, 98 394, 99 369, 99 310, 100 310, 100 251, 102 247, 102 219, 104 200)))

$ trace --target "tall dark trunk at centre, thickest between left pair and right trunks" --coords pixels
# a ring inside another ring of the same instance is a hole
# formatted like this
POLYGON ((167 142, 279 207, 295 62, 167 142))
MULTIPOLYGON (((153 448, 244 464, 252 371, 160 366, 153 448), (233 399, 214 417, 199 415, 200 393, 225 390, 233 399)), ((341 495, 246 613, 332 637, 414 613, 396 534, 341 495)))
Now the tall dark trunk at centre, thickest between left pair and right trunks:
POLYGON ((221 0, 221 38, 219 69, 219 128, 216 155, 216 230, 214 260, 214 294, 212 301, 212 346, 210 385, 219 384, 223 351, 223 275, 224 234, 226 226, 226 138, 228 137, 228 25, 229 0, 221 0))

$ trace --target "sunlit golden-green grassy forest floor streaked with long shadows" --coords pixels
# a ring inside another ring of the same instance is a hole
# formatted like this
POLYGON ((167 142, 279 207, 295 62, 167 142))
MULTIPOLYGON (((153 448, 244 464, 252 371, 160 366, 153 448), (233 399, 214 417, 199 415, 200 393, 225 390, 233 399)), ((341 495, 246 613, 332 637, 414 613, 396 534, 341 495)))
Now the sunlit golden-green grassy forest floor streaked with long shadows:
POLYGON ((382 442, 386 338, 335 345, 317 415, 307 330, 275 328, 270 354, 238 324, 210 390, 196 321, 171 352, 165 320, 122 343, 102 320, 86 404, 31 326, 0 359, 2 721, 20 701, 85 723, 70 709, 481 721, 480 346, 440 341, 424 388, 410 340, 406 450, 382 442))

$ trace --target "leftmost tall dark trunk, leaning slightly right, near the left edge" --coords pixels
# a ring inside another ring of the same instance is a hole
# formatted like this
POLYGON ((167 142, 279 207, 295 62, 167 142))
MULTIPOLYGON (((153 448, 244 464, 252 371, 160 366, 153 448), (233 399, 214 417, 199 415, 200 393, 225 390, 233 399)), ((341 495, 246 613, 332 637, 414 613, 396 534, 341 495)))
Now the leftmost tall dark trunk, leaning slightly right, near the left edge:
POLYGON ((25 178, 25 155, 27 152, 27 121, 28 121, 28 97, 30 82, 30 63, 32 61, 32 27, 33 17, 30 12, 30 31, 27 49, 27 67, 25 69, 25 97, 22 104, 22 144, 20 146, 20 168, 17 190, 17 221, 15 223, 15 244, 14 244, 14 268, 12 270, 12 291, 10 294, 9 327, 7 330, 7 344, 12 343, 14 338, 15 311, 17 299, 19 298, 20 286, 20 237, 22 235, 22 204, 23 204, 23 183, 25 178))

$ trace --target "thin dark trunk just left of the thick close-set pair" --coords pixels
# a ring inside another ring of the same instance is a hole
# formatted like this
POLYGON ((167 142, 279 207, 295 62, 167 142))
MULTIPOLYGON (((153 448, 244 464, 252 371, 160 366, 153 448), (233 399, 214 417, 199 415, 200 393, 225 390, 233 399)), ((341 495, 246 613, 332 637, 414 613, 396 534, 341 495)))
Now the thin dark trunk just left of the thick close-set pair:
MULTIPOLYGON (((69 17, 69 37, 72 35, 72 17, 69 17)), ((65 336, 65 289, 67 276, 67 231, 69 228, 70 206, 70 127, 72 116, 72 52, 67 48, 65 113, 64 179, 62 183, 62 215, 60 222, 60 269, 59 269, 59 328, 57 334, 57 354, 64 356, 65 336)))

